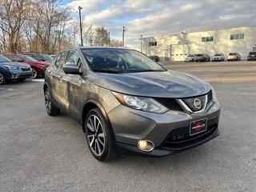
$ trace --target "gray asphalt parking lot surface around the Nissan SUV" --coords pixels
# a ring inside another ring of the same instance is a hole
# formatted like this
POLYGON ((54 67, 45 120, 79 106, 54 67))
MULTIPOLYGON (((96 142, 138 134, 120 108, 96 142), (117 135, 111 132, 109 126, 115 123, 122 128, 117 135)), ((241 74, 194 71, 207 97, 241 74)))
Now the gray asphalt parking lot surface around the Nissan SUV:
POLYGON ((81 126, 46 114, 42 79, 0 86, 0 191, 255 191, 256 62, 175 62, 210 82, 220 136, 165 158, 95 160, 81 126))

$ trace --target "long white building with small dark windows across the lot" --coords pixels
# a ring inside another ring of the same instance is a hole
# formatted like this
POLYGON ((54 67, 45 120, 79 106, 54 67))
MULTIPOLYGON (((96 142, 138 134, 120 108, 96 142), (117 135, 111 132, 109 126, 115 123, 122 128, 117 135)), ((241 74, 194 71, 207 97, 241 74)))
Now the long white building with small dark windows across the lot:
POLYGON ((246 59, 250 51, 256 51, 256 26, 142 38, 142 53, 158 55, 161 61, 184 61, 187 54, 227 56, 231 52, 246 59))

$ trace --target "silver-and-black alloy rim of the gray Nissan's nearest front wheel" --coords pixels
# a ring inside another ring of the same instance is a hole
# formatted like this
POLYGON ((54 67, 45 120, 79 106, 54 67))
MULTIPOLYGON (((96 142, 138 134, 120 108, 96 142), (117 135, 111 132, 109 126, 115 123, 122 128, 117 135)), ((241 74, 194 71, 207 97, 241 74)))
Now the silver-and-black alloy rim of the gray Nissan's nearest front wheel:
POLYGON ((103 154, 106 147, 105 130, 100 119, 92 114, 86 122, 86 137, 90 150, 97 156, 103 154))

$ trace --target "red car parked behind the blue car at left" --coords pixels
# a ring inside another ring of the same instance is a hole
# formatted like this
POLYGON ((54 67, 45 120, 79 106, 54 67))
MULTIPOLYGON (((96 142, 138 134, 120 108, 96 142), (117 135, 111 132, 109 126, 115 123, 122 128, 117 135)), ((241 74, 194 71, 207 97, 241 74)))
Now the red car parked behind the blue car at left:
POLYGON ((33 72, 32 78, 38 78, 40 75, 44 76, 46 68, 50 66, 48 62, 39 62, 25 54, 4 54, 4 56, 9 58, 12 62, 24 62, 29 64, 33 72))

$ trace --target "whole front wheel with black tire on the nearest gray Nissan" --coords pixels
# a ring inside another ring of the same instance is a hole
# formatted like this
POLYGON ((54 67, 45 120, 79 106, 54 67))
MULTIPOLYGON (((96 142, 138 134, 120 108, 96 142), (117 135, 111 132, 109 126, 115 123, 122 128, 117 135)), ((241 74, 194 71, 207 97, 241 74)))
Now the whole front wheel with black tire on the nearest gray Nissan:
POLYGON ((98 108, 90 110, 86 115, 84 128, 86 141, 94 158, 100 162, 107 162, 118 157, 109 123, 98 108))

